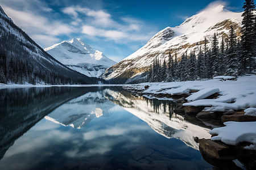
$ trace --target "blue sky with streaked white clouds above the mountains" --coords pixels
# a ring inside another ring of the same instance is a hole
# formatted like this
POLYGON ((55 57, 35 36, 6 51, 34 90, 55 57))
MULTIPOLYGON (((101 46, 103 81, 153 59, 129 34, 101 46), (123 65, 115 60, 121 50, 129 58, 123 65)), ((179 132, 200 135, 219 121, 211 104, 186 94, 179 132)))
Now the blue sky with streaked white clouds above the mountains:
POLYGON ((175 27, 209 5, 242 12, 243 0, 0 0, 14 23, 46 48, 81 38, 93 49, 120 61, 155 33, 175 27))

